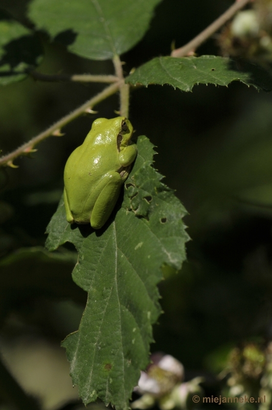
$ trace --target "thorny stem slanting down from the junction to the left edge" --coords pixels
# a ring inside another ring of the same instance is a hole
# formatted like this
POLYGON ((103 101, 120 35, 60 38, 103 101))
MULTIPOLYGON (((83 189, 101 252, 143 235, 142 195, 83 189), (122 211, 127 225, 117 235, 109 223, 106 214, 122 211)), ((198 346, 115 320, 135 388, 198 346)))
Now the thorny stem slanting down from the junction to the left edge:
POLYGON ((61 136, 60 133, 61 128, 67 125, 69 122, 74 120, 75 118, 79 117, 84 112, 90 112, 95 105, 103 101, 105 98, 109 97, 112 94, 115 94, 120 87, 120 82, 116 82, 115 84, 111 84, 103 91, 98 93, 93 98, 90 98, 86 101, 82 106, 78 107, 76 110, 72 111, 70 114, 65 115, 59 121, 55 122, 54 125, 49 127, 46 131, 41 132, 36 137, 32 138, 30 141, 26 142, 26 144, 22 145, 21 147, 17 148, 15 151, 11 152, 0 158, 0 166, 9 166, 12 168, 17 168, 13 165, 13 160, 20 155, 27 155, 33 151, 33 148, 39 144, 39 142, 43 141, 44 139, 50 137, 51 135, 61 136))

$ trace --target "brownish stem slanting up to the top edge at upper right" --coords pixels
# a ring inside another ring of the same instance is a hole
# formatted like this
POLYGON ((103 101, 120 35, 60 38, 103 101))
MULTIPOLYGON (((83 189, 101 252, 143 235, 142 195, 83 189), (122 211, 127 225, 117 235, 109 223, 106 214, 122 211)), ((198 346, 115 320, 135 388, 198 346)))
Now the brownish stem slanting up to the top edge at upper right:
POLYGON ((194 53, 194 51, 203 42, 205 42, 213 33, 215 33, 221 26, 223 26, 234 14, 242 9, 251 0, 239 0, 239 2, 234 3, 228 10, 226 10, 220 17, 218 17, 210 26, 199 33, 195 38, 193 38, 185 46, 173 50, 171 53, 172 57, 184 57, 194 53))

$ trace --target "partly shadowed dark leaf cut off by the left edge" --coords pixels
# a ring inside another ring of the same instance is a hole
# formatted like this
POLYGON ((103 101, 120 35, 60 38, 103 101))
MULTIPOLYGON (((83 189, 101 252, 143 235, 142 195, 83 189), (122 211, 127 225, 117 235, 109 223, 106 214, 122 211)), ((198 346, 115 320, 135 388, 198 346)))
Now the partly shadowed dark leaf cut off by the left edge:
POLYGON ((0 85, 27 77, 42 58, 42 47, 33 32, 0 10, 0 85))

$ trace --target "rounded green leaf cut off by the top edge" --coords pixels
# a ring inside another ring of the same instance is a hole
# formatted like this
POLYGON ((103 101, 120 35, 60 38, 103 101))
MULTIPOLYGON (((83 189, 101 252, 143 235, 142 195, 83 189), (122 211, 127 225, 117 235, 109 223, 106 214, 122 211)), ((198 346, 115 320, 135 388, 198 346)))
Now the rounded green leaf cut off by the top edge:
POLYGON ((161 0, 34 0, 29 17, 38 29, 82 57, 106 60, 137 44, 161 0))

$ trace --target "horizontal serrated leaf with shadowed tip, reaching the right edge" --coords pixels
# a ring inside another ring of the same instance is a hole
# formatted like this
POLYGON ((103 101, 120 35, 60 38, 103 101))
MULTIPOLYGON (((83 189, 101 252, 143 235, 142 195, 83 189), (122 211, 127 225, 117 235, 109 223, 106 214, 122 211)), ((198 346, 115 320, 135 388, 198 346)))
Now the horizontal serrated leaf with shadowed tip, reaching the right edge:
POLYGON ((126 83, 169 84, 182 91, 191 91, 196 84, 227 86, 237 80, 258 90, 272 90, 272 77, 266 70, 247 61, 214 55, 156 57, 129 75, 126 83))

